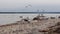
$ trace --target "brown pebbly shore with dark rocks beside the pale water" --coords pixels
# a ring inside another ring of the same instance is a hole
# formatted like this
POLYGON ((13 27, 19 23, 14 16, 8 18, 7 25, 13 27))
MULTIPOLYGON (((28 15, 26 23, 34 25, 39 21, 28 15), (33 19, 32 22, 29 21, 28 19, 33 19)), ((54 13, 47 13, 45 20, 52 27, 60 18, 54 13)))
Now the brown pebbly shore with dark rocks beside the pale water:
MULTIPOLYGON (((22 17, 21 17, 22 18, 22 17)), ((60 34, 60 18, 37 16, 0 26, 0 34, 60 34)))

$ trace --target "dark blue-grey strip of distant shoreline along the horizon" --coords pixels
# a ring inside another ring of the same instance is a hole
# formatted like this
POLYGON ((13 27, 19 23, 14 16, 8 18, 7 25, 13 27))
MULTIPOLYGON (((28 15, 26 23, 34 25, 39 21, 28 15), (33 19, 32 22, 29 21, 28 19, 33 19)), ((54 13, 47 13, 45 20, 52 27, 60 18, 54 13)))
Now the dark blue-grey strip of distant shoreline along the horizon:
POLYGON ((0 14, 60 14, 60 12, 0 12, 0 14))

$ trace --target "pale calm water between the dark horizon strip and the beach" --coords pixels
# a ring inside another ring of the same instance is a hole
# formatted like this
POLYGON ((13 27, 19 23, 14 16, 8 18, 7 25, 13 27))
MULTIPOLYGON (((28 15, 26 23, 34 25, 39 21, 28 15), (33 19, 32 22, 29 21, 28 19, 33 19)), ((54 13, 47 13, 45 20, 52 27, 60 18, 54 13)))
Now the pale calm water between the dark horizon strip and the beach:
MULTIPOLYGON (((29 17, 32 19, 33 17, 37 16, 38 14, 0 14, 0 24, 9 24, 19 21, 21 18, 19 16, 23 16, 23 18, 29 17)), ((46 17, 50 16, 59 16, 60 14, 44 14, 46 17)))

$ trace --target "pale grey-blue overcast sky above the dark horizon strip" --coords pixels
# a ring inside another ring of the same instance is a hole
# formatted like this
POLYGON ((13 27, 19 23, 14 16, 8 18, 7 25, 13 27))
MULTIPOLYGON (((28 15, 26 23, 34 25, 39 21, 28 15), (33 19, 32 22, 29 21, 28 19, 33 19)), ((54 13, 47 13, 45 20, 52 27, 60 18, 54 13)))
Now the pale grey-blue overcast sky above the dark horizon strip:
POLYGON ((60 12, 60 0, 0 0, 0 12, 35 12, 37 9, 60 12))

